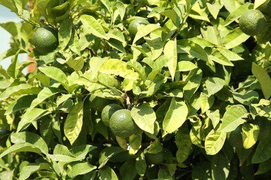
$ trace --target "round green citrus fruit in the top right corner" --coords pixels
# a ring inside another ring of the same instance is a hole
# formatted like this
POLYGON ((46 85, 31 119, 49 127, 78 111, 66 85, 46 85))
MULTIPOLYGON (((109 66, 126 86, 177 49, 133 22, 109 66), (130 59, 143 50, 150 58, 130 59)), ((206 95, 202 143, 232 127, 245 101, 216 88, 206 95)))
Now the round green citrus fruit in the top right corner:
POLYGON ((265 16, 259 10, 247 10, 239 19, 239 26, 247 35, 258 35, 262 32, 265 24, 265 16))

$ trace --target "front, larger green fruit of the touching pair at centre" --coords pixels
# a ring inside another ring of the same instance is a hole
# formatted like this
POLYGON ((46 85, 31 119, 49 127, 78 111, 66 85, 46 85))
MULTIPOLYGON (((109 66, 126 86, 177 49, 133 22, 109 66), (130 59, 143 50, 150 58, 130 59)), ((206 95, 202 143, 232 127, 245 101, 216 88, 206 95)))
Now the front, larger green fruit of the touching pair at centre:
POLYGON ((127 138, 136 132, 136 123, 133 122, 131 111, 120 109, 115 111, 109 120, 109 127, 115 136, 127 138))

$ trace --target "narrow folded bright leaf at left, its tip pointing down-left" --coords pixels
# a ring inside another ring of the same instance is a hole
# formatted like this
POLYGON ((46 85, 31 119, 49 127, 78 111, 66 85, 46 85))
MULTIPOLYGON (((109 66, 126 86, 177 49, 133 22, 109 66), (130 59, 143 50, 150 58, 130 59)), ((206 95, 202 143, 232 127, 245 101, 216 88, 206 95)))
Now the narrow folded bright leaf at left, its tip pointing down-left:
POLYGON ((22 119, 19 121, 17 132, 20 132, 26 129, 31 123, 34 123, 36 120, 50 114, 51 112, 46 109, 33 108, 31 111, 26 111, 22 116, 22 119))

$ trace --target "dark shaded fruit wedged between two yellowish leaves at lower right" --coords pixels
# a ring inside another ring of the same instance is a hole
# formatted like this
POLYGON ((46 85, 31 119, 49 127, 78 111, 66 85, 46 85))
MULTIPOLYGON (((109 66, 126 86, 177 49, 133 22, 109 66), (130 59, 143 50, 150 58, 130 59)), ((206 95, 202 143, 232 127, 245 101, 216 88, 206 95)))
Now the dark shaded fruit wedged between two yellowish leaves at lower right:
POLYGON ((233 147, 244 147, 242 137, 242 125, 239 125, 232 132, 227 134, 227 139, 233 147))

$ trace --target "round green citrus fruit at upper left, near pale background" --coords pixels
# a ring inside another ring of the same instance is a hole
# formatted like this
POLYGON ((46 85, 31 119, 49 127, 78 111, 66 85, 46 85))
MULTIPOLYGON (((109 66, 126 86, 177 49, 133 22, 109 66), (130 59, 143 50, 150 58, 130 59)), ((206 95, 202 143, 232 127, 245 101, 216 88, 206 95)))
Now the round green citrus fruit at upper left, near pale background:
POLYGON ((33 33, 33 44, 39 53, 54 51, 58 46, 58 31, 50 26, 38 28, 33 33))

